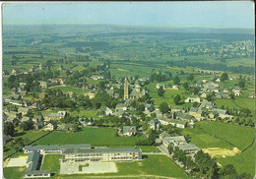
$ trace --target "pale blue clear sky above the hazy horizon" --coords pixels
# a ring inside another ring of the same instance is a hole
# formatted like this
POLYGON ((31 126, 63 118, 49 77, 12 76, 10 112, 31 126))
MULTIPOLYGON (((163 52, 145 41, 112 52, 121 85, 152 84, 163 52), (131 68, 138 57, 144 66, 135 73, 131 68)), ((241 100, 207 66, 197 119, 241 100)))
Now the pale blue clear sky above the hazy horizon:
POLYGON ((254 29, 252 1, 6 3, 4 25, 111 24, 254 29))

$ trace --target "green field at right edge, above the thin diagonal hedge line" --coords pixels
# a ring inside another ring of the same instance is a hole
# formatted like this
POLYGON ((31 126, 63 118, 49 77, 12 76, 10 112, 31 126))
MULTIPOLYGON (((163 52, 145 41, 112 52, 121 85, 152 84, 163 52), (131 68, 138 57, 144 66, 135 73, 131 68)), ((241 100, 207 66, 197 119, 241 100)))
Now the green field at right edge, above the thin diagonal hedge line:
POLYGON ((255 135, 254 128, 234 124, 205 121, 197 125, 200 125, 198 128, 202 128, 204 131, 219 137, 238 149, 245 149, 248 147, 252 143, 255 135))

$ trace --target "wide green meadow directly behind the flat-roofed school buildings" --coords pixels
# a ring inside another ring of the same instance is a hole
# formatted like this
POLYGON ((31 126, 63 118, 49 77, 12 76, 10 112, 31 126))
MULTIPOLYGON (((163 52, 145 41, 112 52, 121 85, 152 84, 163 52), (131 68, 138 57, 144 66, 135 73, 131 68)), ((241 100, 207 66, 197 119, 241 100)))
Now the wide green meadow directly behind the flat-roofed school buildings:
POLYGON ((80 132, 65 133, 55 131, 33 145, 68 145, 91 144, 92 146, 130 146, 134 147, 136 141, 144 138, 115 137, 115 129, 83 128, 80 132))

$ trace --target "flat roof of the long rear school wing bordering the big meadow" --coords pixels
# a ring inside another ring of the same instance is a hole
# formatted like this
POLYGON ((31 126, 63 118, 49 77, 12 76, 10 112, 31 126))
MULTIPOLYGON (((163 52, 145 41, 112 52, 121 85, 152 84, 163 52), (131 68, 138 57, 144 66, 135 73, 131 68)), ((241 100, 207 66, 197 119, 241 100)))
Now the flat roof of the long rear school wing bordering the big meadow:
POLYGON ((90 149, 90 144, 81 145, 45 145, 45 146, 25 146, 24 149, 90 149))

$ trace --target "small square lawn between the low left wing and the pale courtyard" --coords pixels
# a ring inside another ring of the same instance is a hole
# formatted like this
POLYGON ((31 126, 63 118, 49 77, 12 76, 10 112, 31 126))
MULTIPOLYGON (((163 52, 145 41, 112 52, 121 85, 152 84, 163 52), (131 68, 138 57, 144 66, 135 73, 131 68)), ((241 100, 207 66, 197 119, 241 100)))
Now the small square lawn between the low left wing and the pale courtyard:
POLYGON ((51 172, 58 173, 60 170, 60 154, 45 154, 41 170, 50 170, 51 172))

